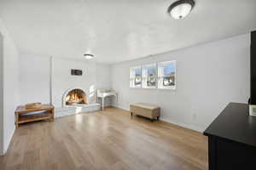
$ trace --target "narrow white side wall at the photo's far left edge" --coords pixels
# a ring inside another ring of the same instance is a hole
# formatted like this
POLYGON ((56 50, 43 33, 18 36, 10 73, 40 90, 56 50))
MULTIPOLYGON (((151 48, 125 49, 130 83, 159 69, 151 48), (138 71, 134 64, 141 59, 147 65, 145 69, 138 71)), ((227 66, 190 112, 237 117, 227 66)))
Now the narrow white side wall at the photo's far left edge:
POLYGON ((19 55, 2 20, 0 32, 3 34, 3 154, 15 132, 15 108, 19 104, 19 55))

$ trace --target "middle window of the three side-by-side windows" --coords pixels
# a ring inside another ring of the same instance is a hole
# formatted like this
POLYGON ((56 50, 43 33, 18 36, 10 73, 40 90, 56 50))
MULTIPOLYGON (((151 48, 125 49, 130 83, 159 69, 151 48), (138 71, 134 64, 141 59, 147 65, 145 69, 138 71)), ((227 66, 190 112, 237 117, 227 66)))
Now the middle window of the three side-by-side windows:
POLYGON ((156 88, 157 69, 156 64, 143 65, 143 88, 156 88))

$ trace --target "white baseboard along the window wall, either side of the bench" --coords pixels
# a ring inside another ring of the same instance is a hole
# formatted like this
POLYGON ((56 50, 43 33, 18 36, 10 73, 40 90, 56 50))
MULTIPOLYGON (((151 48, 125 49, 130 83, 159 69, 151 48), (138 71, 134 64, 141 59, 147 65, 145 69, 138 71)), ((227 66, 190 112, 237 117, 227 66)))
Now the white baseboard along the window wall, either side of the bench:
MULTIPOLYGON (((119 109, 125 110, 125 111, 130 111, 129 107, 126 107, 125 105, 118 104, 118 105, 113 105, 113 106, 117 107, 119 109)), ((174 122, 174 121, 170 121, 170 120, 163 119, 163 118, 160 118, 160 120, 163 121, 163 122, 172 123, 172 124, 177 125, 179 127, 189 128, 191 130, 195 130, 195 131, 200 132, 200 133, 204 132, 204 130, 205 130, 202 127, 196 127, 196 126, 189 125, 189 124, 186 124, 186 123, 183 123, 183 122, 174 122)))

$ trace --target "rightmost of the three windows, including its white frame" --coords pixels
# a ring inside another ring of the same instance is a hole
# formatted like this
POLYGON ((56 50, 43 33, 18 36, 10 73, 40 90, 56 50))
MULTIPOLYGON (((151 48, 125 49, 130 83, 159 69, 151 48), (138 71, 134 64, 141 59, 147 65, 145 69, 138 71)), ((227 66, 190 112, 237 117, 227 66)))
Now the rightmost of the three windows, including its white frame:
POLYGON ((176 61, 159 63, 158 88, 176 89, 176 61))

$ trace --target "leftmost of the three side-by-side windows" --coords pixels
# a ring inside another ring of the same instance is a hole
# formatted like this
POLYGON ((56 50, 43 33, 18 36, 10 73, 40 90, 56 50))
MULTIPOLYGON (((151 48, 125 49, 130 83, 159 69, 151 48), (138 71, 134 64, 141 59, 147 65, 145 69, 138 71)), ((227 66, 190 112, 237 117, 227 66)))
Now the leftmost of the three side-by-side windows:
POLYGON ((142 88, 143 83, 143 71, 141 66, 131 68, 130 87, 142 88))

